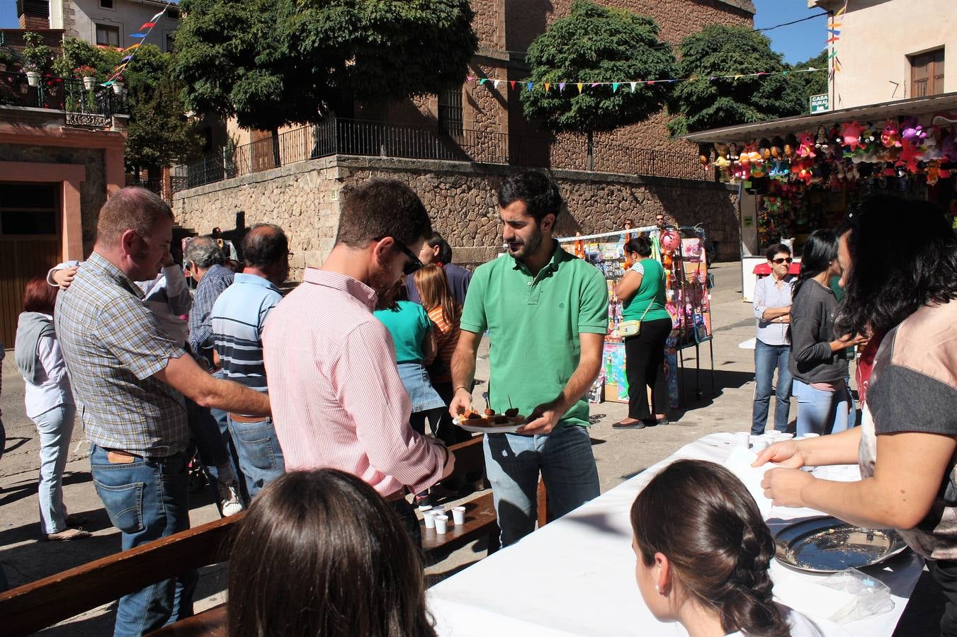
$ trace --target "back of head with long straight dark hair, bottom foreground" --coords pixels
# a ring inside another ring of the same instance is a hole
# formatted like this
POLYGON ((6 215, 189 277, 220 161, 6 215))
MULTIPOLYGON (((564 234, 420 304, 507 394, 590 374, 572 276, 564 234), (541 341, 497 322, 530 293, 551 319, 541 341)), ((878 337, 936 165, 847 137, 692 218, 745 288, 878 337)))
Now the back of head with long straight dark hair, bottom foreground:
POLYGON ((379 494, 331 469, 253 500, 229 561, 231 637, 434 637, 419 551, 379 494))

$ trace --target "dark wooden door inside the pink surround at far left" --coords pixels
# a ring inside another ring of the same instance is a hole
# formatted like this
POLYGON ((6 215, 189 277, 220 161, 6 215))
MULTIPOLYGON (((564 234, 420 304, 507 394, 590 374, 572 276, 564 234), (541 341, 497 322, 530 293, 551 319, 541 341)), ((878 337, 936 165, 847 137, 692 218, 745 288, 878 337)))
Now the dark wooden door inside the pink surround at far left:
POLYGON ((60 184, 0 182, 0 340, 13 346, 23 291, 60 262, 60 184))

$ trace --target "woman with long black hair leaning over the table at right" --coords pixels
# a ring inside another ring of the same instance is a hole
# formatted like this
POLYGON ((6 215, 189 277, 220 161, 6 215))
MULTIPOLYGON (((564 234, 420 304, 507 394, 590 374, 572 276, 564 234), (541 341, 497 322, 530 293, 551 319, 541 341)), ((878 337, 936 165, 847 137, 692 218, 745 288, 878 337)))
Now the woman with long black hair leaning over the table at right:
POLYGON ((942 209, 892 197, 865 201, 839 231, 838 332, 873 334, 865 355, 880 340, 869 379, 858 376, 868 385, 861 427, 772 445, 755 464, 791 468, 765 473, 779 504, 898 529, 944 590, 941 634, 957 635, 957 237, 942 209), (851 463, 858 482, 794 471, 851 463))

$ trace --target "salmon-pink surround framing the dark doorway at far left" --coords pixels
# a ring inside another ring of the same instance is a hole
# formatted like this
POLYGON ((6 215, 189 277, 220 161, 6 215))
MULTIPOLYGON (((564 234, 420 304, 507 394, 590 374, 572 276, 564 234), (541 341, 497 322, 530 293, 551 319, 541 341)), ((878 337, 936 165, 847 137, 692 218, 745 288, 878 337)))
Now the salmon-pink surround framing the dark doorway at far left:
POLYGON ((97 218, 106 203, 105 153, 99 148, 68 148, 43 145, 0 143, 0 158, 5 162, 41 164, 78 164, 86 167, 86 181, 79 186, 80 215, 83 222, 83 253, 93 250, 97 238, 97 218))

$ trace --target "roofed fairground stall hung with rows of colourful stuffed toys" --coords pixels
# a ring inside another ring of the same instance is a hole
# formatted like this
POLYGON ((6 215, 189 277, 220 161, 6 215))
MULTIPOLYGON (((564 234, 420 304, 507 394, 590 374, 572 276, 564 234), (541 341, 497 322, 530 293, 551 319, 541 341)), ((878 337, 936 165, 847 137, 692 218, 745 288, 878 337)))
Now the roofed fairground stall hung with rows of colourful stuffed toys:
MULTIPOLYGON (((727 126, 697 142, 717 180, 738 184, 743 296, 774 243, 795 254, 873 193, 930 200, 957 213, 957 93, 727 126)), ((901 224, 906 213, 901 210, 901 224)))

